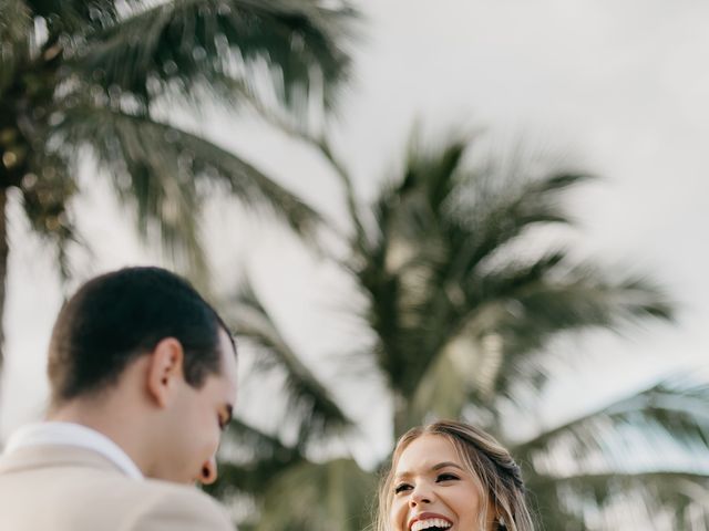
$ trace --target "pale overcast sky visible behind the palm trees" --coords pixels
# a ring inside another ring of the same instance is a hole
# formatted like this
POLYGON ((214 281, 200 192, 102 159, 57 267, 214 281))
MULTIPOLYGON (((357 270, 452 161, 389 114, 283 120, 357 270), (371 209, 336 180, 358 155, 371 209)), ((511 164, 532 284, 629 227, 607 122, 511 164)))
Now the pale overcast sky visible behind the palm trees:
MULTIPOLYGON (((709 4, 676 0, 387 0, 356 2, 364 13, 354 80, 333 127, 335 148, 362 200, 395 170, 414 123, 427 138, 482 129, 492 145, 558 154, 599 179, 569 197, 580 257, 647 272, 679 308, 677 325, 647 324, 624 337, 593 337, 587 356, 547 395, 553 425, 676 371, 709 363, 709 4)), ((321 162, 250 119, 212 116, 201 129, 246 153, 263 169, 341 220, 337 185, 321 162)), ((84 176, 85 178, 85 176, 84 176)), ((93 183, 93 181, 92 181, 93 183)), ((93 256, 79 277, 158 260, 132 236, 126 216, 91 185, 79 200, 93 256)), ((287 235, 226 205, 210 214, 207 239, 224 290, 246 264, 287 337, 318 374, 337 377, 327 356, 357 341, 345 315, 351 287, 287 235)), ((6 309, 7 369, 0 440, 39 418, 47 396, 45 350, 62 292, 51 258, 10 212, 6 309)), ((331 379, 330 379, 331 381, 331 379)), ((373 384, 377 385, 376 383, 373 384)), ((386 454, 389 405, 381 394, 348 400, 367 461, 386 454)), ((245 414, 258 409, 244 406, 245 414)))

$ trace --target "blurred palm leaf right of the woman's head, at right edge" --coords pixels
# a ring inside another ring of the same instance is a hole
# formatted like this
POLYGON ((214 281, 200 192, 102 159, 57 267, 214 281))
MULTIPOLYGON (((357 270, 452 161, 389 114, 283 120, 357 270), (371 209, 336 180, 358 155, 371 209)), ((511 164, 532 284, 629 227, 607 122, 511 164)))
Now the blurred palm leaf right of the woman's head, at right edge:
POLYGON ((530 488, 542 494, 542 513, 566 507, 578 519, 633 496, 650 519, 671 522, 658 529, 701 529, 696 522, 709 519, 709 476, 648 464, 662 464, 668 454, 700 461, 709 446, 708 404, 709 386, 674 378, 546 428, 512 451, 534 464, 530 488))

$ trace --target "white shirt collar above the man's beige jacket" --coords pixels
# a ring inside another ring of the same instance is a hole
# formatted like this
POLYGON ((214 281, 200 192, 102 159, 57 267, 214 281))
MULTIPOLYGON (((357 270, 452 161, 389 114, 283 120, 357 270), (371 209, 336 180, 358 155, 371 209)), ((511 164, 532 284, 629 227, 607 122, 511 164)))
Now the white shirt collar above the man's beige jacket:
POLYGON ((101 454, 126 476, 143 479, 143 473, 123 449, 95 429, 73 423, 35 423, 14 431, 4 448, 10 454, 18 448, 40 445, 76 446, 101 454))

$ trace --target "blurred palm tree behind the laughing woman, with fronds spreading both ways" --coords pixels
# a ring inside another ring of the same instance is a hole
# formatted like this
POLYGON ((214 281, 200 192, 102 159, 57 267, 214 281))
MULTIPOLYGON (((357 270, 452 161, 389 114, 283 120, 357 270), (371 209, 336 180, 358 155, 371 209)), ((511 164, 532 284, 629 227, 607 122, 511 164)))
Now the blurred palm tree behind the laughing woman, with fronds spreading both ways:
MULTIPOLYGON (((667 468, 662 454, 707 451, 709 386, 661 382, 563 425, 536 426, 532 436, 508 421, 515 412, 535 418, 549 368, 576 357, 576 348, 553 350, 552 340, 672 319, 650 281, 579 263, 563 247, 531 246, 540 241, 530 239, 535 231, 571 225, 562 195, 588 176, 534 177, 514 163, 471 169, 466 138, 440 149, 414 144, 402 175, 364 211, 328 144, 308 139, 343 184, 351 237, 340 263, 366 300, 359 316, 372 342, 363 355, 393 403, 393 438, 433 417, 462 417, 492 431, 523 464, 544 529, 614 529, 619 502, 665 518, 657 529, 709 523, 706 470, 667 468), (644 439, 653 444, 629 446, 644 439), (638 457, 656 468, 643 468, 638 457)), ((225 467, 215 492, 240 500, 245 529, 363 529, 377 470, 368 473, 347 456, 317 457, 352 428, 345 409, 288 346, 253 289, 242 287, 225 306, 257 348, 258 368, 285 377, 282 425, 290 434, 295 426, 298 437, 233 426, 232 450, 240 452, 227 454, 240 460, 225 467), (349 473, 351 483, 340 485, 338 473, 349 473)))

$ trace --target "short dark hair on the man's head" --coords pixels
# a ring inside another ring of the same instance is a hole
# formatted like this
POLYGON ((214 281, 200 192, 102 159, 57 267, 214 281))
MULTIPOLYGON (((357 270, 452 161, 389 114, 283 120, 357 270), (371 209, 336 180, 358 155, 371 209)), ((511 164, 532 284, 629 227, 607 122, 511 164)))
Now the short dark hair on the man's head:
POLYGON ((165 337, 184 348, 185 379, 201 387, 222 369, 216 311, 184 279, 126 268, 86 282, 62 308, 49 348, 54 404, 105 388, 165 337))

